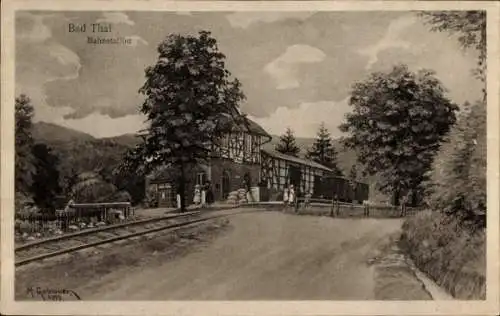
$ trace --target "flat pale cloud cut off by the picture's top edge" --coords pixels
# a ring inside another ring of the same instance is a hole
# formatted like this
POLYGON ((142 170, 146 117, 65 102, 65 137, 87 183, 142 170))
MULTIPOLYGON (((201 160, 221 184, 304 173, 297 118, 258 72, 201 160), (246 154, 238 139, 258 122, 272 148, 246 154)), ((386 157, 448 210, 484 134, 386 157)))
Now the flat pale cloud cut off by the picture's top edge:
POLYGON ((306 20, 313 12, 235 12, 226 15, 227 20, 233 27, 246 29, 252 24, 272 23, 287 19, 306 20))

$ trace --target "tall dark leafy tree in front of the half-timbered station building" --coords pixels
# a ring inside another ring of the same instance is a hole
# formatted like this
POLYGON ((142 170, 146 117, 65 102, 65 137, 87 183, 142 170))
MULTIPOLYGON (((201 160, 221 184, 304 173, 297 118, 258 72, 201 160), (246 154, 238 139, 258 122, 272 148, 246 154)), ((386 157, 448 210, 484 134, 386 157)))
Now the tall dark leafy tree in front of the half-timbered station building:
POLYGON ((146 96, 141 107, 149 125, 145 140, 127 155, 122 169, 137 173, 139 167, 148 173, 163 165, 177 168, 185 210, 186 168, 207 161, 211 146, 234 122, 241 122, 238 104, 244 95, 240 82, 225 69, 225 56, 210 32, 170 35, 158 53, 139 90, 146 96))

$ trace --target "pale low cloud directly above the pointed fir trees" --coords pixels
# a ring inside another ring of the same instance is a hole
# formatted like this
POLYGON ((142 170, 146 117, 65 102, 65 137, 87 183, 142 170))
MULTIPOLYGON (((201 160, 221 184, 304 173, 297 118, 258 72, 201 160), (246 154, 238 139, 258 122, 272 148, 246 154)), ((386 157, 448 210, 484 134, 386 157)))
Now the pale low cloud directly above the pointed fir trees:
POLYGON ((297 108, 279 107, 268 117, 248 117, 260 124, 268 133, 281 135, 290 127, 297 137, 315 137, 321 122, 325 122, 332 137, 341 136, 338 125, 349 110, 347 99, 342 101, 303 102, 297 108))

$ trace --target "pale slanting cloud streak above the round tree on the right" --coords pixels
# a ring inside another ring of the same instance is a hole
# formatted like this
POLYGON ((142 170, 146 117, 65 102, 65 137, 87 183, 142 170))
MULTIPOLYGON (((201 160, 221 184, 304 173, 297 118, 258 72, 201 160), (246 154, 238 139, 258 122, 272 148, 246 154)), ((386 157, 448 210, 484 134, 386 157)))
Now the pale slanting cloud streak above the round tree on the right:
POLYGON ((389 24, 387 32, 380 41, 378 41, 375 45, 359 50, 358 53, 360 55, 364 55, 369 58, 365 69, 370 70, 372 68, 372 66, 378 61, 378 55, 382 51, 389 48, 410 48, 410 42, 401 39, 401 37, 403 31, 412 26, 416 21, 417 19, 413 15, 402 16, 395 19, 389 24))

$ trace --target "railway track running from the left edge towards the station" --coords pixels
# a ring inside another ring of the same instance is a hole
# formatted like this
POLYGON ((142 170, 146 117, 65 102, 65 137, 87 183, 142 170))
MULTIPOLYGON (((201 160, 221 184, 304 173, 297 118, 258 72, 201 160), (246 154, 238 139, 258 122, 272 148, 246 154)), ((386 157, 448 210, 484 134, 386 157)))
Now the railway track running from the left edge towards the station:
POLYGON ((253 211, 255 210, 239 210, 224 214, 211 213, 209 215, 202 215, 201 212, 196 211, 106 226, 99 229, 86 230, 74 234, 27 243, 15 248, 15 266, 19 267, 28 263, 57 257, 87 248, 98 248, 99 246, 103 246, 105 244, 111 244, 164 230, 175 231, 182 228, 188 228, 212 219, 226 217, 236 213, 253 211))

